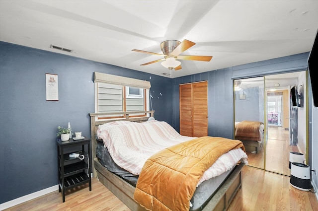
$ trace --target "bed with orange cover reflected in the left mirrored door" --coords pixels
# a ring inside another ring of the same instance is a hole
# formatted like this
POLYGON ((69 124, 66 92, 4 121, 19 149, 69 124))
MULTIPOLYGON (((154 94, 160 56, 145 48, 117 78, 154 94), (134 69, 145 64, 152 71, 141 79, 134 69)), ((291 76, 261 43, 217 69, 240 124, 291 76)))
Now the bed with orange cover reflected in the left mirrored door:
POLYGON ((264 142, 264 124, 246 120, 236 122, 235 139, 243 142, 246 151, 259 154, 264 142))

